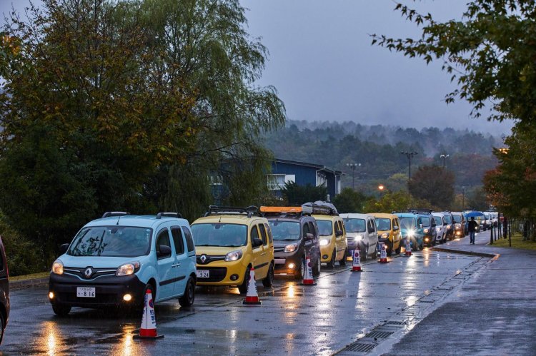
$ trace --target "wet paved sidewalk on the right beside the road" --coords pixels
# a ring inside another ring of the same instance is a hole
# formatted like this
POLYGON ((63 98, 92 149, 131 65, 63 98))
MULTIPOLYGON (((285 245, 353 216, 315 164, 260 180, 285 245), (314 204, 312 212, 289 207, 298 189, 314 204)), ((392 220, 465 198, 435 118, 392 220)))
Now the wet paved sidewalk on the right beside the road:
POLYGON ((536 251, 487 245, 489 231, 475 241, 467 236, 437 250, 496 258, 386 355, 536 354, 536 251))

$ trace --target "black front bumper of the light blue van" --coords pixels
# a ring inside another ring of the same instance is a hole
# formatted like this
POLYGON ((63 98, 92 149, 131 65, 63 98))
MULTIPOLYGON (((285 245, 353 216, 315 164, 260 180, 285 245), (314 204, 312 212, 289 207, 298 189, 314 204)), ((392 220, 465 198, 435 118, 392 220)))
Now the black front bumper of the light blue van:
POLYGON ((144 302, 145 283, 137 275, 104 276, 95 280, 84 281, 72 275, 50 274, 49 292, 54 297, 51 303, 70 305, 71 307, 111 307, 121 305, 142 305, 144 302), (77 297, 76 288, 95 288, 95 297, 77 297), (129 302, 123 300, 125 294, 130 294, 129 302))

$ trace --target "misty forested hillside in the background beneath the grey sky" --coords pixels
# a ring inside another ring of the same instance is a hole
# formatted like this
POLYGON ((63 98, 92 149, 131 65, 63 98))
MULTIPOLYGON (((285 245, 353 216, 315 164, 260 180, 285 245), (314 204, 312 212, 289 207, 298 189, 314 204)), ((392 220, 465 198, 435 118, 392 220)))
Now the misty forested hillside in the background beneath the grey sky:
POLYGON ((399 128, 359 123, 287 121, 287 126, 264 136, 276 158, 319 163, 346 173, 342 183, 352 185, 347 163, 361 163, 354 171, 355 185, 385 180, 396 173, 407 176, 408 161, 401 151, 415 151, 412 171, 418 166, 442 166, 455 173, 456 185, 482 184, 485 171, 497 165, 492 148, 502 139, 467 129, 399 128), (449 155, 445 160, 440 155, 449 155))

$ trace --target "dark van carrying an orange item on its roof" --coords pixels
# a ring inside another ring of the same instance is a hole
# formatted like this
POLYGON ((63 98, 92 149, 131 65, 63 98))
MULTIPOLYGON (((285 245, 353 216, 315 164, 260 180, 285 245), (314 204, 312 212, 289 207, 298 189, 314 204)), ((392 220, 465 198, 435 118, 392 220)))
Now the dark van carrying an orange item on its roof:
POLYGON ((302 211, 301 207, 261 207, 261 212, 268 219, 274 238, 274 273, 302 279, 308 255, 312 274, 319 275, 318 226, 310 213, 302 211))

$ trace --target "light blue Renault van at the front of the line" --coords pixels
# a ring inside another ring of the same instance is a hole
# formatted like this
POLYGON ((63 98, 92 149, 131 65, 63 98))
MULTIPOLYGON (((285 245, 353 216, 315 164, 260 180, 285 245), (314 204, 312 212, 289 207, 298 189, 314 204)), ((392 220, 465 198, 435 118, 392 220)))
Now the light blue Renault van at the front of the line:
POLYGON ((196 262, 192 230, 177 213, 104 213, 84 225, 52 264, 49 300, 57 315, 71 307, 143 307, 195 297, 196 262))

